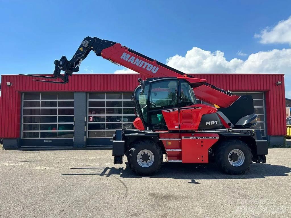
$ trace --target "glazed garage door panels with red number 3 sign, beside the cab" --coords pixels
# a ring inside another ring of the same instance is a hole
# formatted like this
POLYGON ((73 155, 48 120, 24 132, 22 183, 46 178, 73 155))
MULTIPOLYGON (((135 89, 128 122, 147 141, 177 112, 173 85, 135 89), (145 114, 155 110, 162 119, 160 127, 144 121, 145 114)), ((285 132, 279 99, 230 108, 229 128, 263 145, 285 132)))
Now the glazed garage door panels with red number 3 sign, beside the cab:
POLYGON ((111 139, 116 129, 133 129, 131 97, 132 93, 88 93, 87 138, 111 139))

